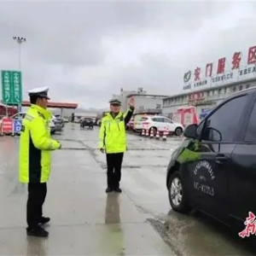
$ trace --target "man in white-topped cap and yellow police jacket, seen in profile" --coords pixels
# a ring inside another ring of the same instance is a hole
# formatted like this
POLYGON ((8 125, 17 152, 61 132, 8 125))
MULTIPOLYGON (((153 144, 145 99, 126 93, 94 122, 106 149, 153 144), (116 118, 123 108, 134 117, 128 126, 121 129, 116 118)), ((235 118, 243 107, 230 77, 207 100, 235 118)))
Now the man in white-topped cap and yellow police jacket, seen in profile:
POLYGON ((49 222, 43 217, 43 204, 47 193, 51 151, 61 144, 50 137, 49 120, 52 114, 47 110, 48 87, 28 91, 31 107, 22 120, 20 133, 20 183, 28 183, 26 222, 28 236, 46 237, 48 232, 42 225, 49 222))

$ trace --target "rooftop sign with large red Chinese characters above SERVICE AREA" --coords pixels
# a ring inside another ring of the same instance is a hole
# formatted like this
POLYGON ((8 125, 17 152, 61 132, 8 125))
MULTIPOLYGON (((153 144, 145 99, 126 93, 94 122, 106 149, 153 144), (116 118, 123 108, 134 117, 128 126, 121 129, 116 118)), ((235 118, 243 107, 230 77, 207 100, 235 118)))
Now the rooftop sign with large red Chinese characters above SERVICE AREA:
MULTIPOLYGON (((189 90, 207 84, 220 85, 221 83, 231 83, 241 79, 248 79, 247 76, 256 74, 255 64, 256 46, 253 46, 248 49, 247 66, 241 67, 241 52, 235 52, 230 63, 227 63, 225 57, 218 60, 215 74, 212 74, 213 63, 207 63, 205 71, 202 71, 201 67, 196 67, 194 73, 192 72, 192 76, 187 76, 187 79, 183 79, 183 90, 189 90), (231 71, 227 72, 227 68, 230 68, 231 71)), ((191 73, 191 71, 188 73, 191 73)))

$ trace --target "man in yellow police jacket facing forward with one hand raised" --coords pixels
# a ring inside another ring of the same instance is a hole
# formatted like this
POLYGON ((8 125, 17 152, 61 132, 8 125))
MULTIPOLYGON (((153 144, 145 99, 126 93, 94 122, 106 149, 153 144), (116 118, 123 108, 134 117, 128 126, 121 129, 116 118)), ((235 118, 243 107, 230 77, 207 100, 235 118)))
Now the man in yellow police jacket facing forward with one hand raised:
POLYGON ((126 113, 120 112, 121 102, 119 100, 113 99, 109 103, 110 112, 102 119, 99 147, 107 156, 108 188, 106 193, 112 191, 121 193, 122 189, 119 188, 121 166, 127 148, 125 126, 134 111, 134 98, 130 99, 126 113))

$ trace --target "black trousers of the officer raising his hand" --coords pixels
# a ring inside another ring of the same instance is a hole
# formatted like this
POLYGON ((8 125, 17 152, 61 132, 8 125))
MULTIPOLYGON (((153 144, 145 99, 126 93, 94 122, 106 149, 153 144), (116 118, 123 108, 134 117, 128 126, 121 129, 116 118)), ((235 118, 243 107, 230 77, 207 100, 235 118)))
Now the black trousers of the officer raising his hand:
POLYGON ((107 180, 108 188, 119 188, 121 180, 121 167, 124 153, 107 154, 107 180))

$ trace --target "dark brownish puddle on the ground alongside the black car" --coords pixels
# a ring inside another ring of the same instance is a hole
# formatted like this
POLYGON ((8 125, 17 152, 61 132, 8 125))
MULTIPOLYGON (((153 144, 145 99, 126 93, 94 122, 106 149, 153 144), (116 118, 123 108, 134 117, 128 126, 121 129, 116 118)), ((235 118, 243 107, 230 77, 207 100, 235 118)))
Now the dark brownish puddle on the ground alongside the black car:
POLYGON ((166 218, 147 220, 177 255, 255 255, 248 242, 201 212, 183 215, 171 211, 166 218))

